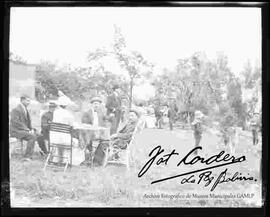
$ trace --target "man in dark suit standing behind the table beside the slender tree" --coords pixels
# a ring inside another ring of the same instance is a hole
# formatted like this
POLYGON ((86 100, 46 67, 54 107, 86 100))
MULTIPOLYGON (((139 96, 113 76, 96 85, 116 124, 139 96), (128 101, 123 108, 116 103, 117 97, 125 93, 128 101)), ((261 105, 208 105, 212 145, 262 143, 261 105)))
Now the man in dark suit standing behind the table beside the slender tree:
POLYGON ((106 102, 107 115, 111 117, 111 135, 117 132, 121 118, 120 88, 118 85, 114 85, 112 89, 113 93, 108 96, 106 102))

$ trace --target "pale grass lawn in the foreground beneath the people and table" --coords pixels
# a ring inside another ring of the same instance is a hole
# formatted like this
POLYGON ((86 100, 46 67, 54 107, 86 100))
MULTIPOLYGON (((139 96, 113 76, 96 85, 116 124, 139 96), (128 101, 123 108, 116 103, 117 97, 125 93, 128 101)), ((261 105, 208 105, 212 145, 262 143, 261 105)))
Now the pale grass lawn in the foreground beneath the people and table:
MULTIPOLYGON (((246 156, 246 161, 227 166, 229 174, 236 171, 249 174, 254 181, 236 181, 222 183, 210 192, 210 186, 200 184, 181 184, 180 179, 171 179, 151 185, 151 181, 177 175, 185 171, 198 169, 196 166, 176 167, 177 162, 193 148, 192 131, 175 129, 145 129, 136 137, 136 165, 129 171, 124 167, 106 168, 72 167, 65 174, 48 168, 43 172, 44 159, 38 156, 32 162, 23 162, 18 155, 10 160, 11 205, 13 207, 187 207, 187 206, 255 206, 260 205, 261 179, 259 177, 260 156, 252 147, 249 137, 241 136, 236 148, 236 157, 246 156), (149 152, 161 145, 166 153, 176 149, 179 156, 173 156, 167 165, 153 165, 141 178, 138 173, 149 159, 149 152), (205 199, 172 198, 166 195, 198 194, 236 194, 253 193, 252 198, 205 199), (149 198, 146 195, 165 195, 149 198)), ((218 154, 224 149, 220 138, 211 132, 205 132, 201 141, 201 156, 218 154)), ((216 168, 213 174, 218 176, 224 168, 216 168)))

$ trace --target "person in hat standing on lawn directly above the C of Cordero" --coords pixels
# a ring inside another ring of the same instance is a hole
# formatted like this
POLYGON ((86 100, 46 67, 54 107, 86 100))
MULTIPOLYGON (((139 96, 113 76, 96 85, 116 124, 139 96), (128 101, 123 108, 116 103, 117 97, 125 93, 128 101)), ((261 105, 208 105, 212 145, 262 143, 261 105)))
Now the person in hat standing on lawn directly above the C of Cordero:
MULTIPOLYGON (((200 145, 200 141, 202 138, 202 118, 203 113, 201 111, 195 111, 194 121, 191 123, 194 132, 195 138, 195 148, 200 145)), ((197 154, 198 150, 194 151, 194 154, 197 154)))

